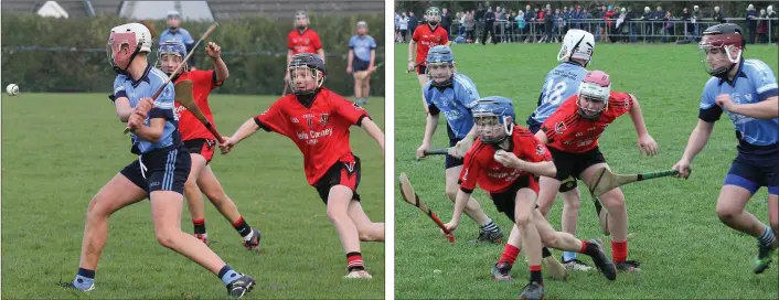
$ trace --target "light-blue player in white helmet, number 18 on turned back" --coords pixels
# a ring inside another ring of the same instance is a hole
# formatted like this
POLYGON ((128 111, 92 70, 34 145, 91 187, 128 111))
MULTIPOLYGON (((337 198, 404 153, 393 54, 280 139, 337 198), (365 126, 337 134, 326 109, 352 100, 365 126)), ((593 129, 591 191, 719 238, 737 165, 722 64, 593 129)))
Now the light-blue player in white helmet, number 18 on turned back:
MULTIPOLYGON (((591 33, 584 30, 572 29, 565 34, 563 47, 557 54, 557 61, 559 61, 561 64, 546 74, 544 86, 538 96, 538 107, 527 118, 527 128, 533 133, 538 131, 541 125, 557 110, 565 99, 578 93, 579 84, 585 75, 587 75, 585 67, 593 58, 594 50, 595 38, 591 33)), ((547 181, 549 180, 552 179, 542 176, 540 184, 548 184, 547 181)), ((558 190, 563 197, 562 229, 573 235, 576 235, 576 223, 578 222, 579 214, 578 207, 581 201, 581 196, 576 186, 576 180, 568 178, 562 182, 558 190)), ((546 203, 538 202, 541 213, 548 217, 548 212, 556 197, 538 197, 538 200, 542 199, 552 200, 552 202, 546 203)), ((606 211, 598 212, 598 214, 601 213, 605 214, 606 211)), ((588 271, 591 269, 587 264, 578 260, 576 253, 573 251, 563 253, 563 265, 569 270, 588 271)))

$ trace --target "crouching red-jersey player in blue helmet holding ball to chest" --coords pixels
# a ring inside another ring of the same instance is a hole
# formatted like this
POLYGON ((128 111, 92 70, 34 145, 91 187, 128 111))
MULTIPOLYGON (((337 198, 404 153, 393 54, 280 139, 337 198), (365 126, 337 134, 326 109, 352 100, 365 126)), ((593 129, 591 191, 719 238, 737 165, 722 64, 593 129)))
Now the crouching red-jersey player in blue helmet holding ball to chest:
POLYGON ((552 248, 586 254, 593 257, 606 278, 616 279, 613 262, 597 239, 580 240, 572 234, 555 231, 536 208, 537 176, 554 176, 557 170, 546 147, 530 130, 514 124, 511 99, 481 98, 471 111, 479 139, 466 153, 455 213, 446 226, 450 231, 457 228, 466 203, 478 184, 490 194, 498 211, 514 222, 509 243, 517 246, 522 243, 526 249, 531 277, 520 299, 543 299, 546 294, 541 276, 542 243, 552 248))

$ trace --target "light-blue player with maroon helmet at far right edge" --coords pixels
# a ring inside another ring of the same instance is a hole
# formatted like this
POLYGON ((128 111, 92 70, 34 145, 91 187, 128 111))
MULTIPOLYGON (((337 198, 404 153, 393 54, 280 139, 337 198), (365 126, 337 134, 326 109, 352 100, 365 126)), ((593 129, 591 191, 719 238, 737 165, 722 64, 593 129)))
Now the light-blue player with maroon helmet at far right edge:
POLYGON ((682 159, 673 169, 690 176, 690 164, 706 146, 714 122, 726 113, 736 129, 738 154, 719 191, 716 212, 730 228, 757 238, 755 274, 771 262, 779 233, 779 88, 771 68, 758 60, 743 57, 744 31, 736 24, 717 24, 703 32, 698 47, 713 77, 701 97, 698 122, 682 159), (745 210, 749 199, 768 188, 768 221, 761 223, 745 210))

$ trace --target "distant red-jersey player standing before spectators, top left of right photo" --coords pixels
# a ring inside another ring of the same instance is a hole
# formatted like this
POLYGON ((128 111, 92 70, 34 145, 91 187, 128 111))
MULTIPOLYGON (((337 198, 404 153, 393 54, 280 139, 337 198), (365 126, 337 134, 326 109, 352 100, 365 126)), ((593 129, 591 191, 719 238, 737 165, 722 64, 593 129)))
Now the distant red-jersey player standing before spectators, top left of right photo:
MULTIPOLYGON (((425 71, 427 69, 427 52, 437 45, 451 45, 449 41, 449 34, 444 28, 439 25, 441 21, 441 11, 431 7, 425 12, 425 19, 427 24, 417 26, 414 30, 414 35, 412 35, 412 41, 408 43, 408 72, 416 69, 417 78, 419 78, 419 86, 425 87, 427 82, 430 79, 427 77, 425 71), (414 60, 414 47, 416 47, 417 58, 414 60)), ((421 92, 421 105, 427 110, 427 101, 425 101, 425 92, 421 92)))

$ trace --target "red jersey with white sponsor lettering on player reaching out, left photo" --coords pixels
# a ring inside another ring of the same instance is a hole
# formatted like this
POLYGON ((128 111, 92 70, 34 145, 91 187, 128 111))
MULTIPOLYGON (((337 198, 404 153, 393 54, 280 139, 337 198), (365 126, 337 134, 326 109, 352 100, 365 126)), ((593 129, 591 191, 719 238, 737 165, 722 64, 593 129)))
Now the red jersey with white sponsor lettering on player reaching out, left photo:
POLYGON ((289 94, 254 120, 266 131, 282 135, 298 146, 303 153, 306 179, 314 185, 330 167, 352 156, 349 127, 360 125, 364 117, 369 115, 362 107, 322 88, 310 107, 289 94))

